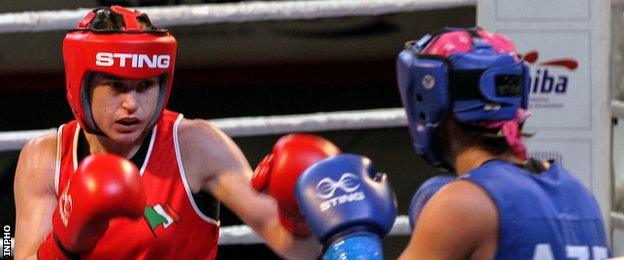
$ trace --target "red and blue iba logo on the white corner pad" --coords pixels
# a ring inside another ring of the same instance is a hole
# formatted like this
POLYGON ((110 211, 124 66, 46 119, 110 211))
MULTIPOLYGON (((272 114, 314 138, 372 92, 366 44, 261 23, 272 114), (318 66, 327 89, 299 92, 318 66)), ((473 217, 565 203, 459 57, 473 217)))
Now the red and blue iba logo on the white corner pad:
POLYGON ((538 61, 539 53, 529 51, 522 57, 531 66, 530 109, 563 109, 561 96, 568 92, 570 75, 578 67, 570 58, 538 61))

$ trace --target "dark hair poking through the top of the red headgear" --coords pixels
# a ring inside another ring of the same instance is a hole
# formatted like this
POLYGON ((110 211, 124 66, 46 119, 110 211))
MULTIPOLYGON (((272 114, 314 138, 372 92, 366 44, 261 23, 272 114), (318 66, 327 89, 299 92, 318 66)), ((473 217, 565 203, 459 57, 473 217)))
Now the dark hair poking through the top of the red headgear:
MULTIPOLYGON (((110 7, 100 7, 94 9, 95 17, 89 24, 88 29, 100 32, 120 31, 126 26, 123 15, 114 12, 110 7)), ((152 24, 147 14, 141 13, 137 16, 137 21, 141 29, 146 31, 159 31, 163 28, 156 27, 152 24)))

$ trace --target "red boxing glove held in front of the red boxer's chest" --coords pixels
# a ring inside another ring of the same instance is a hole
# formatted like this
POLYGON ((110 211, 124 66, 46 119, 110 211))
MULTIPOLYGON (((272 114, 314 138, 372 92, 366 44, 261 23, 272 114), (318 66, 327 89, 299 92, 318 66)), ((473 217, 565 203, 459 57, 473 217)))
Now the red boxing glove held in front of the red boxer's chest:
POLYGON ((112 218, 143 216, 145 188, 139 170, 113 154, 85 158, 63 190, 52 215, 52 232, 39 259, 67 259, 92 250, 112 218))

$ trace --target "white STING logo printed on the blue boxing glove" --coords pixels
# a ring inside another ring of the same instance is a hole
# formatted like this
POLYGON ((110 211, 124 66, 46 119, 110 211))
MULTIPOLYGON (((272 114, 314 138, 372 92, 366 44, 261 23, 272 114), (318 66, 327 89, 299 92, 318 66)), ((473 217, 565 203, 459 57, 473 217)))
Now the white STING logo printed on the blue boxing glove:
POLYGON ((321 211, 326 211, 336 205, 364 200, 366 195, 363 192, 355 192, 360 184, 360 178, 350 172, 343 173, 338 181, 334 181, 330 177, 323 178, 316 185, 316 196, 325 200, 319 204, 319 208, 321 211), (345 194, 334 197, 338 189, 345 194))

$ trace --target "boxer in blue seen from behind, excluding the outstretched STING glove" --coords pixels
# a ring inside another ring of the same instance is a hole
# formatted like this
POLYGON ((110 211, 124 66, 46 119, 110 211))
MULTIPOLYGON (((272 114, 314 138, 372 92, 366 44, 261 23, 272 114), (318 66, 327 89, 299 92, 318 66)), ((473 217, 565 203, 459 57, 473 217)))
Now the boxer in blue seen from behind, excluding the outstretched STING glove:
POLYGON ((511 40, 447 28, 408 43, 397 76, 416 152, 458 176, 417 193, 431 199, 412 203, 401 259, 609 257, 591 192, 557 162, 527 158, 529 68, 511 40))

